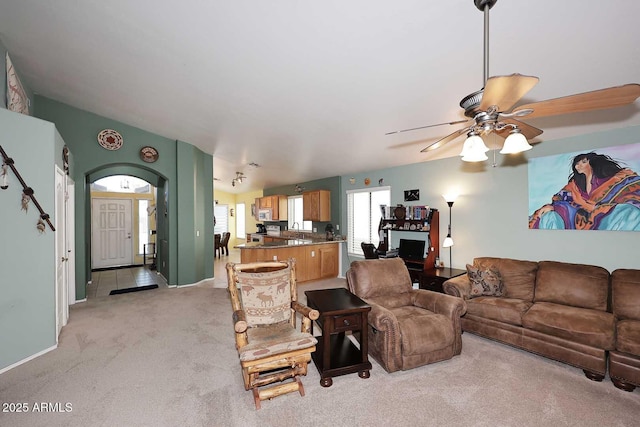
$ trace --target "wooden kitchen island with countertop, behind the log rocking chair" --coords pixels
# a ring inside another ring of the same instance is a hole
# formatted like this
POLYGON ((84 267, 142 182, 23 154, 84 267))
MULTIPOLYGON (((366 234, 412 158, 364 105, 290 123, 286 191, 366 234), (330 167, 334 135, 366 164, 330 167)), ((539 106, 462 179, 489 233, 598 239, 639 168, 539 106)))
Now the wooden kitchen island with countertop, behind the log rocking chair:
POLYGON ((242 263, 295 258, 298 282, 308 282, 338 277, 342 242, 342 240, 312 237, 295 239, 285 236, 264 243, 242 243, 235 247, 240 249, 242 263))

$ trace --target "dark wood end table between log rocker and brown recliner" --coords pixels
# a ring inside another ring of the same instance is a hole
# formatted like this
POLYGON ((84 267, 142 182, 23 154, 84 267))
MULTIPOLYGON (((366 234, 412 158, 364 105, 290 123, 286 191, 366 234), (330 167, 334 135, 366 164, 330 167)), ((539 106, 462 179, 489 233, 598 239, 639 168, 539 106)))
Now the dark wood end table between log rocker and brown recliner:
POLYGON ((305 291, 305 295, 307 305, 320 312, 316 323, 322 336, 311 353, 320 373, 320 385, 331 387, 332 377, 354 372, 360 378, 369 378, 367 316, 371 307, 345 288, 305 291), (360 333, 359 350, 345 336, 347 331, 360 333))

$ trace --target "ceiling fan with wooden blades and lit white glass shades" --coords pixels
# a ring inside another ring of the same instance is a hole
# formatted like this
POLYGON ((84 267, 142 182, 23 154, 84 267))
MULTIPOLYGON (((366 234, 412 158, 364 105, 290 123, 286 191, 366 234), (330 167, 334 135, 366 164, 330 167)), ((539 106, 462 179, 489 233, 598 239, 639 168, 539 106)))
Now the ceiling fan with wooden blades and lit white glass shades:
POLYGON ((519 105, 514 108, 539 79, 522 74, 487 78, 489 74, 489 10, 497 1, 474 0, 475 6, 484 12, 483 77, 485 85, 483 89, 467 95, 460 101, 460 107, 464 109, 464 115, 468 119, 403 129, 386 135, 465 123, 465 127, 430 144, 421 152, 435 150, 466 134, 467 138, 460 153, 462 160, 482 161, 487 160, 486 152, 489 151, 482 140, 482 135, 496 133, 506 138, 500 151, 502 154, 519 153, 532 148, 527 140, 542 134, 542 130, 518 120, 521 117, 545 117, 620 107, 633 103, 640 96, 640 84, 631 83, 519 105))

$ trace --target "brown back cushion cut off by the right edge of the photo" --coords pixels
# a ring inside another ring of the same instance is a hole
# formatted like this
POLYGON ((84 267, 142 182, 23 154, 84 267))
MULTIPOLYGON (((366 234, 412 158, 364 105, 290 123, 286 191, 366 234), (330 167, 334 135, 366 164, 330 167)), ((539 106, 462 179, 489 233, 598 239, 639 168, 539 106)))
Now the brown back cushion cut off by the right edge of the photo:
POLYGON ((640 320, 640 270, 618 269, 611 273, 613 314, 619 320, 640 320))

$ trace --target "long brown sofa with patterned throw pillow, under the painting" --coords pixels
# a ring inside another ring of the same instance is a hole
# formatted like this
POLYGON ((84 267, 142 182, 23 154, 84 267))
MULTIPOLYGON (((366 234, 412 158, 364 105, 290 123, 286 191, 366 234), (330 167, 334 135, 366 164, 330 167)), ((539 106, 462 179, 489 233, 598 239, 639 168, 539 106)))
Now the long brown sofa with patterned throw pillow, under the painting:
POLYGON ((476 258, 473 265, 497 270, 504 292, 469 298, 468 274, 447 280, 445 293, 467 303, 463 331, 576 366, 591 380, 604 378, 607 353, 616 345, 606 269, 491 257, 476 258))

